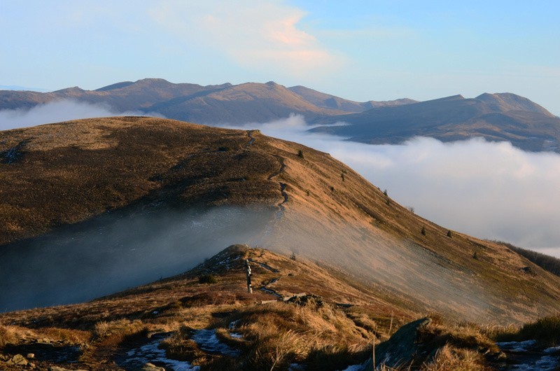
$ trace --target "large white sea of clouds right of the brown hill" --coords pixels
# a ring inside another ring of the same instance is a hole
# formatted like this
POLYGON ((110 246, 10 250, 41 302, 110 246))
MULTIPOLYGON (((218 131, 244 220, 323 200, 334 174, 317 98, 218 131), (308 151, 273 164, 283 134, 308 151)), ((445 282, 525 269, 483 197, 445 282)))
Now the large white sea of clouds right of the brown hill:
MULTIPOLYGON (((224 125, 232 127, 231 125, 224 125)), ((442 225, 560 258, 560 155, 528 153, 509 142, 442 143, 418 137, 370 145, 307 132, 301 116, 258 128, 271 137, 330 153, 393 200, 442 225)), ((239 127, 237 127, 239 128, 239 127)))

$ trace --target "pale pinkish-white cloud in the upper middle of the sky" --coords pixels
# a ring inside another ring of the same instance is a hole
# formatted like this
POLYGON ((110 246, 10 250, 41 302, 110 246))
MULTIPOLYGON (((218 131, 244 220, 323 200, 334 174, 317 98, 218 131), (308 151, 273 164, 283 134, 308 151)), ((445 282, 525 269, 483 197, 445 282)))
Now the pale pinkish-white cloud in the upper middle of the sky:
POLYGON ((343 63, 298 27, 302 10, 276 1, 165 1, 150 13, 186 43, 224 53, 248 69, 304 77, 332 73, 343 63))

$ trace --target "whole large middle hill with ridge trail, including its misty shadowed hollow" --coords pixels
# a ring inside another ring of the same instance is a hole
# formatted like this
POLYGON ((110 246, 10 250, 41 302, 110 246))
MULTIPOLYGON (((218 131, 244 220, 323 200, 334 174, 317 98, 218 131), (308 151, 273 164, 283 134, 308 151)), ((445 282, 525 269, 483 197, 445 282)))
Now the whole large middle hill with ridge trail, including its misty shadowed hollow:
POLYGON ((402 311, 511 322, 557 309, 558 276, 502 244, 448 237, 330 155, 258 131, 104 118, 0 132, 0 143, 0 307, 62 284, 86 293, 83 274, 90 298, 120 282, 109 294, 239 241, 336 267, 402 311))

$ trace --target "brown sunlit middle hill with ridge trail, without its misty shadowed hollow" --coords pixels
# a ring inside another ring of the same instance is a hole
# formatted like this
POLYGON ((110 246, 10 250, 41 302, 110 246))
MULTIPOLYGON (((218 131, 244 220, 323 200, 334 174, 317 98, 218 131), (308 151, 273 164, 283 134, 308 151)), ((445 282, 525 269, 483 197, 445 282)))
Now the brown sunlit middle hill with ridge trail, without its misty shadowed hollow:
POLYGON ((264 205, 275 211, 253 243, 339 267, 401 306, 510 321, 560 300, 558 277, 505 246, 449 237, 330 155, 256 131, 105 118, 0 143, 3 244, 131 205, 264 205))

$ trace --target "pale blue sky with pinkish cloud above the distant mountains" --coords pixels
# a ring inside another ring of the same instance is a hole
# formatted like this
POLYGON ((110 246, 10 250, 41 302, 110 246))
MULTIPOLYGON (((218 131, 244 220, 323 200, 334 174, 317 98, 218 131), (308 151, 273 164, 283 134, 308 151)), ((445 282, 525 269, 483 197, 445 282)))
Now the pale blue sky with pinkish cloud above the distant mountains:
POLYGON ((165 78, 348 99, 514 92, 560 115, 557 1, 0 2, 0 85, 165 78))

